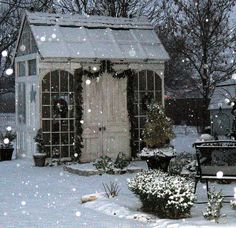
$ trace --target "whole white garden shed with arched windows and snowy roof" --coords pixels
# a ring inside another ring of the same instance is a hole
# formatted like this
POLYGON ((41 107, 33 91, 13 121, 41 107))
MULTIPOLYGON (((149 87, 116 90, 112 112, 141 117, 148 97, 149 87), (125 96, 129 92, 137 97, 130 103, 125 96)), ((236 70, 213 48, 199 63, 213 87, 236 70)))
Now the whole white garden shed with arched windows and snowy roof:
POLYGON ((139 151, 145 104, 164 104, 168 58, 144 18, 26 12, 15 53, 18 155, 36 152, 39 128, 48 156, 139 151))

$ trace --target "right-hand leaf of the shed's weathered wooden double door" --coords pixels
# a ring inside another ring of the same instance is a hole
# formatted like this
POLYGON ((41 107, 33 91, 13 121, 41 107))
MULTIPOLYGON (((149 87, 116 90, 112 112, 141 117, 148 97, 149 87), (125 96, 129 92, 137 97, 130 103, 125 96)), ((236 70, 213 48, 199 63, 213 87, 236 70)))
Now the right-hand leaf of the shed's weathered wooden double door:
POLYGON ((130 128, 127 111, 127 78, 103 75, 103 153, 130 157, 130 128))

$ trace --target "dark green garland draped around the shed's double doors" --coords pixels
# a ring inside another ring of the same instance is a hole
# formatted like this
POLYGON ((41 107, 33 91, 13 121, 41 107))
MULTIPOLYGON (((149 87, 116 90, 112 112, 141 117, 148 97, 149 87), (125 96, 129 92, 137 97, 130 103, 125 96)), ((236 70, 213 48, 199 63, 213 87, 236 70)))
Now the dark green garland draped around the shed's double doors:
POLYGON ((130 128, 130 147, 131 147, 131 155, 132 157, 136 156, 137 148, 135 148, 134 144, 134 108, 133 108, 133 71, 131 69, 124 70, 121 73, 116 73, 115 70, 112 68, 113 64, 110 61, 103 60, 101 61, 100 69, 96 72, 91 72, 88 70, 82 70, 78 69, 75 71, 75 109, 76 109, 76 137, 75 137, 75 151, 78 154, 78 157, 76 158, 77 161, 79 161, 79 158, 82 153, 83 148, 83 128, 81 124, 81 120, 83 118, 83 75, 86 75, 89 78, 97 78, 102 73, 107 72, 112 74, 114 78, 125 78, 127 77, 127 109, 128 109, 128 115, 129 115, 129 121, 131 123, 130 128))

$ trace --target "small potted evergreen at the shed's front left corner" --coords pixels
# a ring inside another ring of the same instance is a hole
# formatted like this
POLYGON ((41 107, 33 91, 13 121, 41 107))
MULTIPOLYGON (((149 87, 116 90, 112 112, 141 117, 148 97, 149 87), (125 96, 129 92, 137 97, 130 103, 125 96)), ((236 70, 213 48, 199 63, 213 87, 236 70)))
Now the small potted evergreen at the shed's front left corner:
POLYGON ((37 145, 37 151, 38 153, 35 153, 33 155, 34 158, 34 164, 35 166, 43 167, 45 166, 45 161, 47 157, 46 153, 46 147, 45 147, 45 141, 43 139, 43 130, 40 128, 34 137, 34 140, 37 145))

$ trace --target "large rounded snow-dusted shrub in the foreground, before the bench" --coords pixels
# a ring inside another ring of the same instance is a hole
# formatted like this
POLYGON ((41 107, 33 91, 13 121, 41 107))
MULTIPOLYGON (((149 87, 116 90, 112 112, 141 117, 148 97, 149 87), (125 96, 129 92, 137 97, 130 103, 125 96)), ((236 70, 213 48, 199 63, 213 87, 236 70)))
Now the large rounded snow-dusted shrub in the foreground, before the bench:
POLYGON ((194 184, 184 177, 170 176, 159 170, 138 173, 128 182, 139 196, 143 209, 161 218, 184 218, 190 215, 195 199, 194 184))

